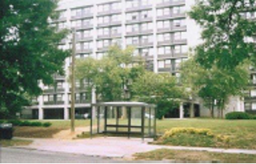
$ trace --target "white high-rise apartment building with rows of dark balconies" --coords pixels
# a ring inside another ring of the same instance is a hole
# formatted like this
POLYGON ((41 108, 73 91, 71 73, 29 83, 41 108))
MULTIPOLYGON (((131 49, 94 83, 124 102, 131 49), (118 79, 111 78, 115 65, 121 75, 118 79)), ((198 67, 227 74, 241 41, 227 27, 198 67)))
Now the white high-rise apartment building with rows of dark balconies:
MULTIPOLYGON (((134 46, 134 56, 151 62, 152 71, 179 76, 179 67, 187 60, 188 49, 201 42, 200 28, 186 14, 194 3, 194 0, 63 0, 57 11, 60 18, 53 24, 59 29, 76 29, 77 58, 102 58, 111 45, 118 43, 122 48, 134 46)), ((71 36, 59 47, 70 48, 71 36)), ((56 75, 54 86, 41 84, 43 95, 23 111, 24 118, 70 118, 69 67, 70 58, 67 58, 67 76, 56 75)), ((96 101, 93 93, 92 97, 88 96, 87 83, 76 83, 75 113, 81 117, 90 109, 90 103, 96 101)), ((240 101, 237 106, 241 106, 240 101)), ((196 116, 200 116, 199 108, 198 105, 196 116)), ((177 112, 179 115, 183 112, 177 112)))

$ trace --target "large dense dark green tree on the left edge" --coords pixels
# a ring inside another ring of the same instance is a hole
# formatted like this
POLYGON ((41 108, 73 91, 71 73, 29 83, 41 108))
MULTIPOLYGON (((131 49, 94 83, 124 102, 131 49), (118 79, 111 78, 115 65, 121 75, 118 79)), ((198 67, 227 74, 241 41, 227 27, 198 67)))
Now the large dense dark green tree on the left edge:
POLYGON ((0 1, 0 108, 14 116, 27 101, 24 94, 38 96, 38 81, 53 82, 63 71, 68 51, 58 48, 67 31, 57 32, 58 1, 0 1))

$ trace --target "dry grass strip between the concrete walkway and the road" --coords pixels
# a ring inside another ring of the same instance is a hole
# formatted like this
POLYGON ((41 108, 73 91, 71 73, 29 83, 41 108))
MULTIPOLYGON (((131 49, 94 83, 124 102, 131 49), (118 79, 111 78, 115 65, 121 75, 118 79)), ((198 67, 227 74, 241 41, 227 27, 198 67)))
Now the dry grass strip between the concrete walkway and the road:
POLYGON ((155 150, 134 155, 136 160, 176 160, 180 162, 255 163, 256 155, 208 153, 201 151, 155 150))

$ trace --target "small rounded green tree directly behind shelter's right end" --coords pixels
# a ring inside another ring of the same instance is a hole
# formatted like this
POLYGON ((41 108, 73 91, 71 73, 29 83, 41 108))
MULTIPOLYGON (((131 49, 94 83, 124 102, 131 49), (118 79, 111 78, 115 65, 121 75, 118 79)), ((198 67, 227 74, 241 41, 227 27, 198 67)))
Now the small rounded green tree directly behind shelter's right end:
POLYGON ((177 86, 177 79, 169 73, 157 74, 146 71, 132 84, 134 99, 154 103, 161 119, 171 108, 177 107, 178 98, 183 96, 183 89, 177 86))

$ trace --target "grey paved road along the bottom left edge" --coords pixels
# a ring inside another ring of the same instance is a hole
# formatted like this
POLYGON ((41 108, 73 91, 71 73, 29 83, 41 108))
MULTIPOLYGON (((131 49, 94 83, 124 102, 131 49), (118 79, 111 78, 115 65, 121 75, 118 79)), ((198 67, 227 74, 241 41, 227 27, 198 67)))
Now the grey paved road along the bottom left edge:
MULTIPOLYGON (((50 153, 38 150, 1 148, 0 163, 127 163, 127 161, 110 158, 89 157, 68 153, 50 153)), ((130 161, 129 163, 137 163, 130 161)), ((139 162, 155 163, 155 162, 139 162)), ((158 163, 166 163, 164 161, 158 163)))

